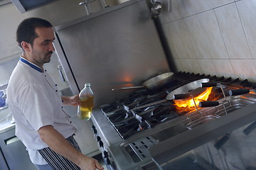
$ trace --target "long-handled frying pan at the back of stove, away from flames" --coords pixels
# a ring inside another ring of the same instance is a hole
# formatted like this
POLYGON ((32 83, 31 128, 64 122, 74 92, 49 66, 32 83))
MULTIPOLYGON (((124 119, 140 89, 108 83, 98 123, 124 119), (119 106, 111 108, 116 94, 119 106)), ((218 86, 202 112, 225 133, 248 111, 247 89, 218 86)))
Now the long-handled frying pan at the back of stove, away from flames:
POLYGON ((171 77, 173 77, 174 73, 173 72, 166 72, 164 74, 159 74, 156 77, 152 77, 151 79, 148 79, 144 81, 142 86, 130 86, 130 87, 122 87, 119 89, 112 89, 114 90, 129 90, 129 89, 139 89, 139 88, 146 88, 146 89, 155 89, 159 86, 162 86, 166 84, 171 77))

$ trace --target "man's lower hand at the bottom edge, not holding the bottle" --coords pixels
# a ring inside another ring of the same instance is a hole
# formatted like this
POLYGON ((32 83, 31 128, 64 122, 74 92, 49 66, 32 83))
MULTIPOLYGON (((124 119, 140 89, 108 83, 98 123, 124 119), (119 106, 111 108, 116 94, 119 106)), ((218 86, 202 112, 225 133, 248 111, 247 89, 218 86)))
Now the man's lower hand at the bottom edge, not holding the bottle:
POLYGON ((82 157, 79 166, 81 170, 95 170, 95 169, 103 170, 104 169, 96 159, 87 157, 85 155, 84 157, 82 157))

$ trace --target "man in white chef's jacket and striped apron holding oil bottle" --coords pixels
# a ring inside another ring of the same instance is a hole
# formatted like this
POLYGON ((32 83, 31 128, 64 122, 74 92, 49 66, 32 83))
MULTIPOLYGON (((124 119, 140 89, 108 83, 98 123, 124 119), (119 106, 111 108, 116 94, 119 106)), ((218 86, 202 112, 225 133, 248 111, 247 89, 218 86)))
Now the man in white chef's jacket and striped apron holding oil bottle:
POLYGON ((16 136, 38 169, 103 169, 96 159, 82 154, 76 128, 63 105, 78 106, 78 95, 59 96, 43 69, 55 50, 53 26, 41 18, 23 20, 16 41, 23 53, 11 74, 7 103, 16 122, 16 136))

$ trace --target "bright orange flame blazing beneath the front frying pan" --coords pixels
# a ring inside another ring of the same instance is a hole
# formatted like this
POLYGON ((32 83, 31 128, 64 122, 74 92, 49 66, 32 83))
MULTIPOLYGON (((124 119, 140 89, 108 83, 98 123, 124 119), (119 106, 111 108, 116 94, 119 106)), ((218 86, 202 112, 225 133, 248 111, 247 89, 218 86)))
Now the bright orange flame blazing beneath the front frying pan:
MULTIPOLYGON (((198 96, 193 96, 196 106, 199 105, 200 101, 207 101, 212 89, 213 89, 213 87, 207 87, 206 90, 203 91, 198 96)), ((191 110, 195 109, 196 108, 195 103, 193 102, 192 98, 174 100, 174 106, 177 106, 176 111, 178 111, 179 113, 181 113, 183 111, 191 111, 191 110)))

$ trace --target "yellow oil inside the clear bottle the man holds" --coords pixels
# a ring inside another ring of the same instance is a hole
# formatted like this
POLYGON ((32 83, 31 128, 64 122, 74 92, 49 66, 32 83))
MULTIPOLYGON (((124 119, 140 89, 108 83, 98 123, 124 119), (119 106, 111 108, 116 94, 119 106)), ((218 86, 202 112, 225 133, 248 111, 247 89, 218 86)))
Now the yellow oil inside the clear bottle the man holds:
POLYGON ((93 108, 93 96, 85 99, 82 98, 80 101, 82 104, 79 106, 78 118, 90 120, 93 108))

